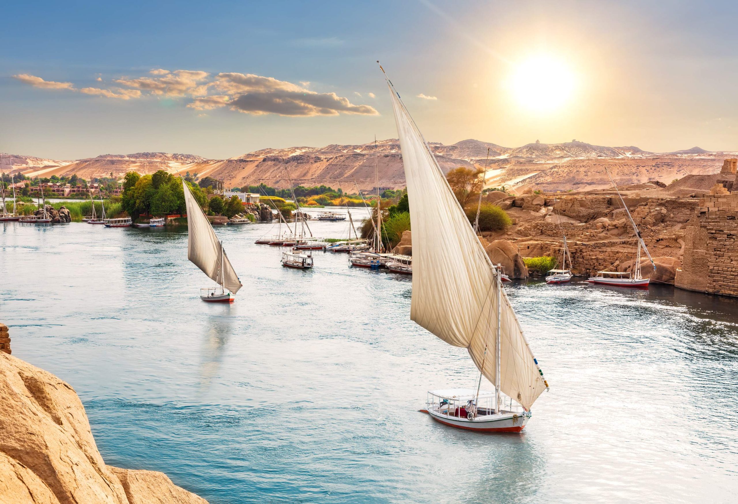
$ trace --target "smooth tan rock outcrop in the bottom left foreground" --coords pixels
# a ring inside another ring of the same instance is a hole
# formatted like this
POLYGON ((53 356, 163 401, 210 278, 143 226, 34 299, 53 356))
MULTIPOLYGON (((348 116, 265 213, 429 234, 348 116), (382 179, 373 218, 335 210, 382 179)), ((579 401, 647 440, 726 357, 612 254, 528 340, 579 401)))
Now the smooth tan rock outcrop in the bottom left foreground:
POLYGON ((207 504, 161 472, 106 466, 77 393, 0 352, 0 503, 207 504))

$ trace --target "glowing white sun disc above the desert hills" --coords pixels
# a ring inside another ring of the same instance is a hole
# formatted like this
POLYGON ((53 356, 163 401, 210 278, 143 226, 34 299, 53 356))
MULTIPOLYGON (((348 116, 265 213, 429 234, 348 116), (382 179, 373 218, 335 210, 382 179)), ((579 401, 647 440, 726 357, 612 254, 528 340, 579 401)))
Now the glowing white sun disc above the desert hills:
POLYGON ((515 65, 508 90, 525 110, 548 113, 561 110, 576 91, 570 67, 554 55, 534 55, 515 65))

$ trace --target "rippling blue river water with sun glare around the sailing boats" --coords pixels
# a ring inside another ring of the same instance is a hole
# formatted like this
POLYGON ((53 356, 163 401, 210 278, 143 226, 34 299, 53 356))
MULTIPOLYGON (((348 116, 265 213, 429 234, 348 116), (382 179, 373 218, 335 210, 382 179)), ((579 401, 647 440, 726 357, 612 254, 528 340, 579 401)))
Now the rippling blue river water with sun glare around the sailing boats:
POLYGON ((506 286, 551 391, 523 434, 480 435, 418 412, 476 374, 409 320, 409 278, 285 269, 268 229, 215 229, 244 288, 210 305, 186 228, 0 224, 13 354, 75 387, 107 463, 211 503, 735 501, 736 300, 506 286))

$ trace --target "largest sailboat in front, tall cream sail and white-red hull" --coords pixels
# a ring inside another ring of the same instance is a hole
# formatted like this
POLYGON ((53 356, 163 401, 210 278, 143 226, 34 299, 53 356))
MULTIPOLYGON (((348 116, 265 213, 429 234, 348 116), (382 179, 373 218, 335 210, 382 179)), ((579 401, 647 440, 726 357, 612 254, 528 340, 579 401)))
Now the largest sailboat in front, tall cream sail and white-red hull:
POLYGON ((384 78, 412 201, 410 319, 449 345, 466 348, 480 371, 475 388, 429 391, 422 411, 461 429, 520 432, 548 382, 502 288, 500 269, 486 254, 400 95, 384 78), (481 389, 483 376, 494 390, 481 389))

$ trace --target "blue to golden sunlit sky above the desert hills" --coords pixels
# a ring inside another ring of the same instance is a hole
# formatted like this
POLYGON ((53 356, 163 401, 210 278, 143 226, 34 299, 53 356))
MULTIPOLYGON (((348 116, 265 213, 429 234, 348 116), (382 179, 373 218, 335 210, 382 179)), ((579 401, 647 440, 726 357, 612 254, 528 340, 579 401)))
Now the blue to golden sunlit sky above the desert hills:
POLYGON ((376 59, 432 141, 738 150, 727 2, 30 1, 4 18, 2 152, 223 158, 396 137, 376 59), (207 77, 145 87, 177 70, 207 77))

